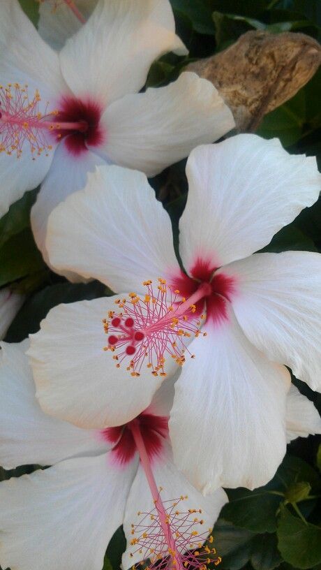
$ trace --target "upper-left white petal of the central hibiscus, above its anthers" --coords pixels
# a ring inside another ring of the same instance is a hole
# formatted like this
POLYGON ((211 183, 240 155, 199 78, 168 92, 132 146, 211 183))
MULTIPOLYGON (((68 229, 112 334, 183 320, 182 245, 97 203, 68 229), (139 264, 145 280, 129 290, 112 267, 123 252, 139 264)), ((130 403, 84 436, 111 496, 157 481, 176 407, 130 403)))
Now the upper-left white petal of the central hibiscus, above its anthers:
POLYGON ((142 291, 143 281, 179 272, 170 217, 144 174, 118 166, 98 168, 52 212, 46 247, 57 270, 113 291, 142 291))

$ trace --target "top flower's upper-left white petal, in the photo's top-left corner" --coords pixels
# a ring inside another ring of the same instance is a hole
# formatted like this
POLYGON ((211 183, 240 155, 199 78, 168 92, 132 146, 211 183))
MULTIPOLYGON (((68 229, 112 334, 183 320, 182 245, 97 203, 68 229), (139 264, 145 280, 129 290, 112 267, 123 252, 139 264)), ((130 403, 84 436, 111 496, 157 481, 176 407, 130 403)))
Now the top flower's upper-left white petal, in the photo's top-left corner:
POLYGON ((17 0, 0 6, 1 85, 19 82, 39 89, 45 102, 68 91, 59 68, 59 58, 24 14, 17 0))

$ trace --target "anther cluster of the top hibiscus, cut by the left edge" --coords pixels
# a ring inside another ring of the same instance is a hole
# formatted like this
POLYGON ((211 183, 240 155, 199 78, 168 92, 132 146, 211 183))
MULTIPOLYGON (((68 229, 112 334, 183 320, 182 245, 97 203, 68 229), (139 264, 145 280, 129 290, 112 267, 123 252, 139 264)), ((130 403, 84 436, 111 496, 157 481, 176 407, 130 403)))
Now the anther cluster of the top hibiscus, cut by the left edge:
POLYGON ((19 159, 26 140, 33 160, 43 152, 47 154, 52 150, 48 130, 53 130, 54 124, 48 125, 46 120, 56 116, 57 111, 47 113, 46 108, 43 115, 39 110, 40 101, 38 89, 32 98, 29 97, 28 85, 0 85, 0 152, 6 152, 9 156, 15 153, 19 159))

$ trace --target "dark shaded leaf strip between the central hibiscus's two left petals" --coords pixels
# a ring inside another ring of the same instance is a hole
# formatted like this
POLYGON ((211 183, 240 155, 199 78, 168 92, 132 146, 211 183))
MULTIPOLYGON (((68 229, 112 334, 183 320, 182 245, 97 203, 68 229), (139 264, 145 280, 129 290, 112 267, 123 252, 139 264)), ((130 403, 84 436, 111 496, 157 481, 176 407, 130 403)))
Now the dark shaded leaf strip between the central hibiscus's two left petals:
POLYGON ((24 303, 8 330, 6 341, 20 342, 29 333, 36 333, 40 328, 40 321, 45 319, 47 312, 56 305, 96 299, 103 297, 106 291, 106 287, 97 281, 78 284, 58 283, 45 287, 24 303))

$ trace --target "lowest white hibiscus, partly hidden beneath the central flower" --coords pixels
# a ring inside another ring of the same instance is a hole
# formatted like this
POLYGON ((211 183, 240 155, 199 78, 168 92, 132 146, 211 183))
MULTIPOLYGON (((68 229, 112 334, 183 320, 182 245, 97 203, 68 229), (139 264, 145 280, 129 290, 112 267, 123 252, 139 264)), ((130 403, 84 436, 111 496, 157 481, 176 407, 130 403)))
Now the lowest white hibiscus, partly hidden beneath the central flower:
POLYGON ((227 496, 219 489, 205 499, 173 465, 167 427, 172 381, 129 424, 82 430, 40 409, 27 344, 1 344, 0 463, 7 469, 53 467, 0 483, 1 566, 101 570, 107 544, 123 524, 124 569, 144 558, 157 559, 158 568, 170 558, 179 570, 199 569, 208 557, 199 545, 227 496))

